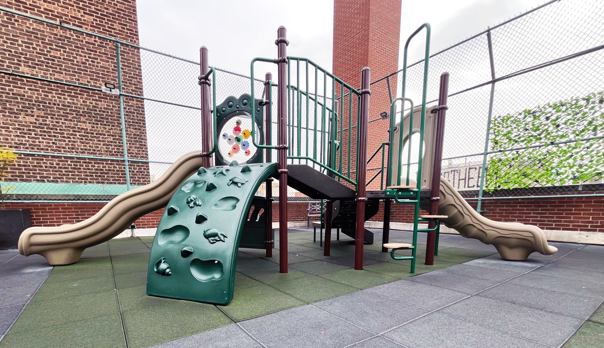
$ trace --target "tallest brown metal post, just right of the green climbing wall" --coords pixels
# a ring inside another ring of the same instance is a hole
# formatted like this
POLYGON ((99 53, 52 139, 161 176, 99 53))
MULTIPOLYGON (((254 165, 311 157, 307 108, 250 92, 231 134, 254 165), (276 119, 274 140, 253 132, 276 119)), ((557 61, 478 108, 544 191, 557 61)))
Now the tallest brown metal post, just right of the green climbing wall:
POLYGON ((288 60, 287 30, 277 29, 277 128, 279 153, 279 272, 288 272, 288 60))

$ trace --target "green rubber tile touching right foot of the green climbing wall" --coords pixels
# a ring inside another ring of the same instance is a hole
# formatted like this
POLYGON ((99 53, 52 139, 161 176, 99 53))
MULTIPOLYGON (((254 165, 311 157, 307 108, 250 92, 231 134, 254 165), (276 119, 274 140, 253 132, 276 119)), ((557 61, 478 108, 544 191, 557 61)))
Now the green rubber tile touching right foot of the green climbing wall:
POLYGON ((216 307, 233 321, 242 321, 304 304, 268 285, 261 285, 237 290, 231 303, 216 307))

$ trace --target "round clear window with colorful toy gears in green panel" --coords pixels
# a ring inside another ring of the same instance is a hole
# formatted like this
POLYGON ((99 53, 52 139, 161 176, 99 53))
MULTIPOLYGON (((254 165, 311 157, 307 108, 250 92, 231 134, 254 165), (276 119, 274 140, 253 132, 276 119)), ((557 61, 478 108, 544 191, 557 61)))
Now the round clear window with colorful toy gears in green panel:
MULTIPOLYGON (((219 124, 218 153, 223 163, 251 163, 259 151, 252 142, 252 118, 246 112, 234 112, 219 124)), ((256 143, 262 144, 262 134, 255 129, 256 143)))

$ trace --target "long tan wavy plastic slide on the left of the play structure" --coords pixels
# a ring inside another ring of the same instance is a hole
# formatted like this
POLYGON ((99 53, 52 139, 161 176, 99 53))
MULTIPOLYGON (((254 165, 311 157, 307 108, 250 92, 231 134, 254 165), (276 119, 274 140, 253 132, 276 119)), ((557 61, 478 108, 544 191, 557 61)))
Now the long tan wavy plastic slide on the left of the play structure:
POLYGON ((27 228, 19 237, 19 253, 40 254, 54 266, 77 262, 86 248, 112 239, 144 214, 164 207, 182 182, 202 166, 200 154, 187 153, 159 179, 122 193, 85 221, 27 228))

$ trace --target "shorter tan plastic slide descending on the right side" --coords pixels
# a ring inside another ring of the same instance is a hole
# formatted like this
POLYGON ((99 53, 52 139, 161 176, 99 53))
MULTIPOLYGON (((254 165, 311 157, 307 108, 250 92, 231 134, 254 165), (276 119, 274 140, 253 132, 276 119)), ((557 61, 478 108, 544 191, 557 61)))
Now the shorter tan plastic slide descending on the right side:
POLYGON ((446 227, 466 238, 494 245, 504 260, 524 261, 535 251, 544 255, 558 251, 548 245, 539 227, 492 221, 478 214, 445 178, 440 178, 439 214, 449 216, 442 220, 446 227))

